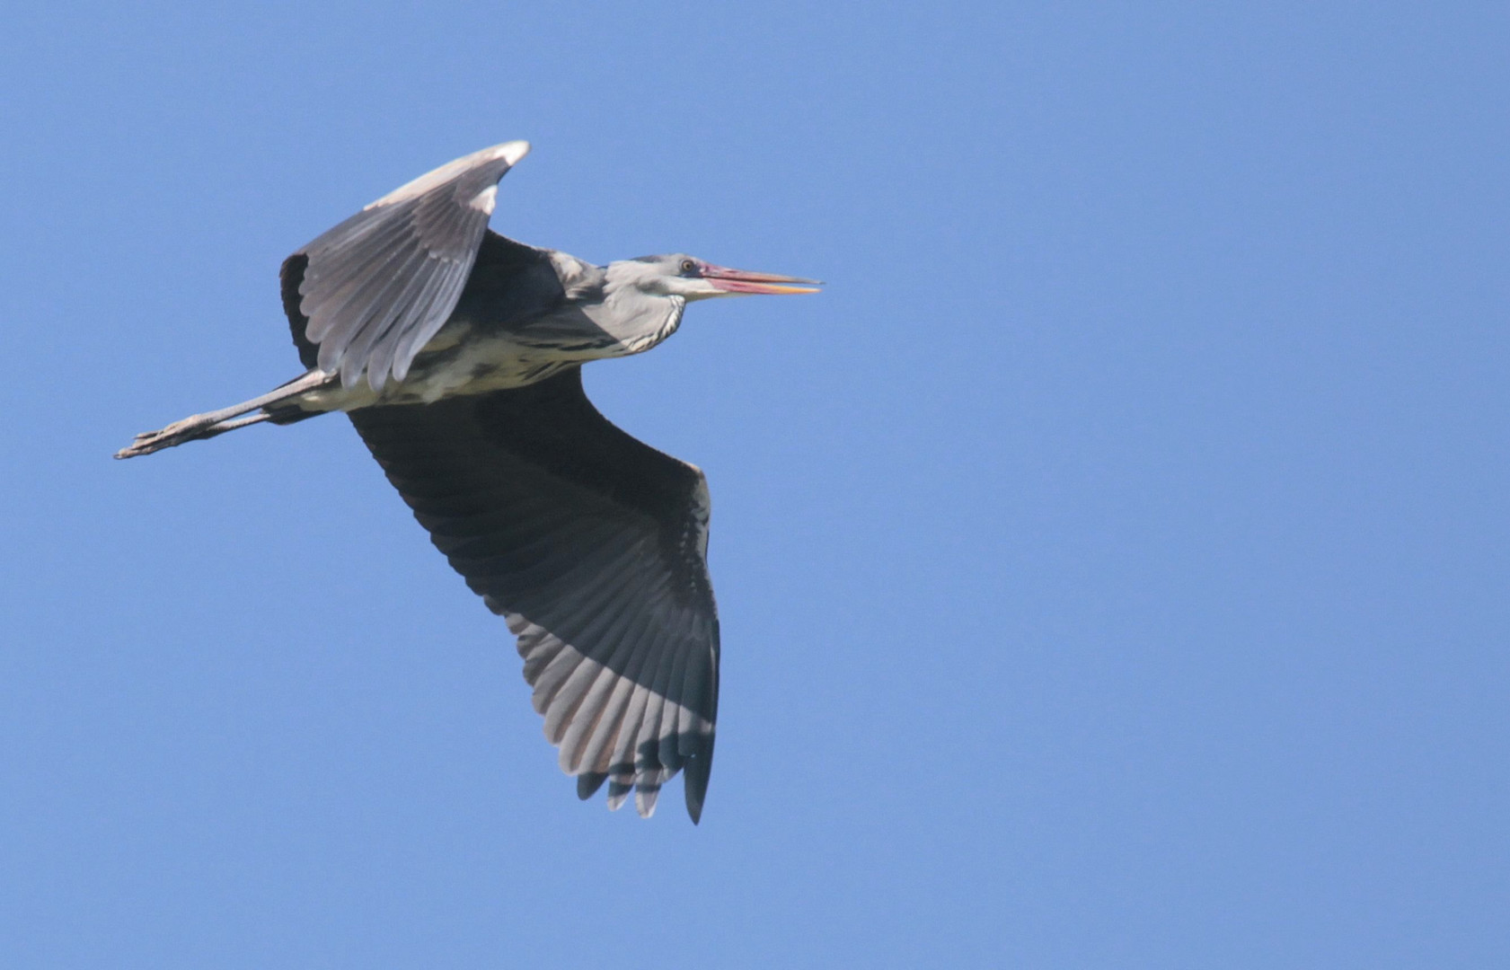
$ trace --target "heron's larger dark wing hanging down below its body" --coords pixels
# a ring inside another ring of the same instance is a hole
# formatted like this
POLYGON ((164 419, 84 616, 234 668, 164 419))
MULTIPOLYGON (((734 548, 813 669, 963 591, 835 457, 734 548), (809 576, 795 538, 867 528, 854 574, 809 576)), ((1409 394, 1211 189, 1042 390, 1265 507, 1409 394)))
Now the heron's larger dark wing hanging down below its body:
POLYGON ((451 567, 507 618, 560 765, 648 816, 686 769, 702 814, 719 706, 702 473, 615 428, 581 370, 350 412, 451 567))

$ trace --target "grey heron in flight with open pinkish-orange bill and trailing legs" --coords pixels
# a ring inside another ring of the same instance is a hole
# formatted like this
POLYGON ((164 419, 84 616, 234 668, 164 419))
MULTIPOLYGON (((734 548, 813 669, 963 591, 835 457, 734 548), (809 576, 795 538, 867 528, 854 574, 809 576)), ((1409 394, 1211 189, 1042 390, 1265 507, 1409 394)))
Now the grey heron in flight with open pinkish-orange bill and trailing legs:
POLYGON ((394 189, 281 272, 300 376, 136 435, 134 458, 344 411, 435 547, 518 638, 581 799, 640 816, 683 772, 702 816, 719 709, 708 485, 615 428, 581 366, 670 337, 689 302, 818 283, 686 254, 595 266, 488 228, 504 142, 394 189))

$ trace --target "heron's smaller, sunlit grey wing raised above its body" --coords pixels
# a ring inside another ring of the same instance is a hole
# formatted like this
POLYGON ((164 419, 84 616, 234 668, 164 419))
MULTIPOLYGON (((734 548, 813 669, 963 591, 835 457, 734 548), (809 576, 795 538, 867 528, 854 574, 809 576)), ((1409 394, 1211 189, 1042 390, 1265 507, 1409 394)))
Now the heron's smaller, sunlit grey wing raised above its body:
POLYGON ((304 344, 319 348, 320 370, 340 372, 346 387, 362 373, 373 390, 390 373, 403 381, 456 308, 498 180, 528 151, 527 142, 504 142, 442 165, 288 257, 285 280, 302 263, 296 310, 308 319, 304 344))

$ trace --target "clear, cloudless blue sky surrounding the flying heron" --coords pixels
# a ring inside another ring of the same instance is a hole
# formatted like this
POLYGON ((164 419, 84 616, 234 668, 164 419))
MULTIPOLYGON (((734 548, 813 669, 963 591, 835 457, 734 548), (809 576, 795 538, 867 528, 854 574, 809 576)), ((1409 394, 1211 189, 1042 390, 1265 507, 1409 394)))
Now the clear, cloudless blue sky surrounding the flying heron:
POLYGON ((1510 965, 1510 14, 15 5, 0 965, 1510 965), (577 802, 284 255, 820 276, 587 370, 707 470, 701 826, 577 802))

